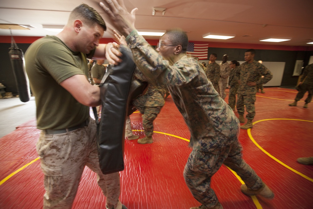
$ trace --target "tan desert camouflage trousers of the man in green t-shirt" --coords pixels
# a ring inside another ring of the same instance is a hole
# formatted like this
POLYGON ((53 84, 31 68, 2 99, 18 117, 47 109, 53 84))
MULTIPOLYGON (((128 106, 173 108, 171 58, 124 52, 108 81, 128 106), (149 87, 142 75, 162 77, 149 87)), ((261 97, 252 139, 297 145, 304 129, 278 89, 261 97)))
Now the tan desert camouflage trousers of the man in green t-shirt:
POLYGON ((36 144, 44 173, 44 209, 70 209, 81 175, 88 166, 97 174, 98 185, 106 196, 108 208, 121 208, 119 172, 104 175, 100 170, 96 124, 60 134, 40 133, 36 144))

